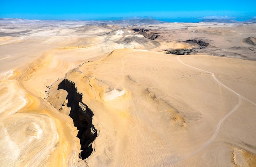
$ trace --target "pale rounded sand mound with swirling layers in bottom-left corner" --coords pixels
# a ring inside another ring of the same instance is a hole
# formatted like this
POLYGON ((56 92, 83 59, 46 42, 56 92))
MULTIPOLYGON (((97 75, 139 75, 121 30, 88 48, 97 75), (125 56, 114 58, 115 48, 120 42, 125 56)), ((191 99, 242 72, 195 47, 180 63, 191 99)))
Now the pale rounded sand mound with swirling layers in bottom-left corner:
POLYGON ((58 135, 53 133, 56 131, 55 123, 51 118, 45 115, 13 114, 2 118, 1 124, 5 129, 4 133, 8 133, 9 136, 9 140, 1 140, 1 144, 5 143, 3 149, 7 149, 6 151, 8 151, 5 152, 5 154, 9 155, 2 163, 9 164, 9 160, 14 160, 15 163, 13 163, 13 165, 38 165, 41 163, 40 157, 46 158, 48 151, 51 151, 58 141, 58 135), (10 121, 12 119, 15 119, 15 121, 10 121), (10 124, 12 124, 12 126, 10 126, 10 124), (16 134, 11 134, 10 132, 12 132, 14 127, 19 127, 20 131, 17 131, 16 134), (41 142, 43 142, 43 145, 40 144, 41 142), (8 145, 13 145, 13 149, 9 150, 8 145), (36 146, 40 149, 33 148, 36 146), (34 151, 32 151, 33 149, 34 151), (23 156, 25 153, 33 159, 28 161, 27 157, 23 156), (23 161, 19 161, 19 159, 23 161))

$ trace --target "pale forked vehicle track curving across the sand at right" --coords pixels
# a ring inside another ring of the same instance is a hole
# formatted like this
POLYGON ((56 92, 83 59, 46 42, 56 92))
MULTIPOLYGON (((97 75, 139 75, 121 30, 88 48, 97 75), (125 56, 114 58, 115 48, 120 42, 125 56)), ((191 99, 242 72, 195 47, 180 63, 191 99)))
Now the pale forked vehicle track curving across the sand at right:
POLYGON ((193 66, 190 66, 190 65, 187 65, 185 64, 184 62, 182 62, 179 58, 180 56, 177 56, 177 59, 184 65, 188 66, 188 67, 191 67, 193 69, 198 69, 200 71, 204 71, 204 72, 207 72, 207 73, 210 73, 213 77, 214 80, 216 80, 220 85, 222 85, 223 87, 225 87, 226 89, 228 89, 229 91, 233 92, 234 94, 236 94, 238 96, 238 104, 236 105, 236 107, 234 107, 226 116, 224 116, 219 122, 218 122, 218 125, 216 127, 216 131, 215 133, 213 134, 213 136, 210 138, 210 140, 205 143, 202 147, 200 147, 200 149, 194 151, 192 154, 186 156, 185 158, 188 158, 189 156, 192 156, 194 154, 197 154, 199 151, 201 151, 202 149, 204 149, 205 147, 207 147, 215 138, 216 136, 218 135, 218 132, 219 132, 219 129, 220 129, 220 125, 222 124, 222 122, 228 117, 230 116, 240 105, 241 105, 241 102, 242 102, 242 98, 244 98, 245 100, 247 100, 248 102, 251 102, 252 104, 256 105, 256 103, 252 102, 251 100, 241 96, 240 94, 238 94, 236 91, 230 89, 229 87, 227 87, 226 85, 222 84, 215 76, 214 76, 214 73, 212 72, 209 72, 209 71, 205 71, 205 70, 202 70, 202 69, 199 69, 199 68, 196 68, 196 67, 193 67, 193 66))

